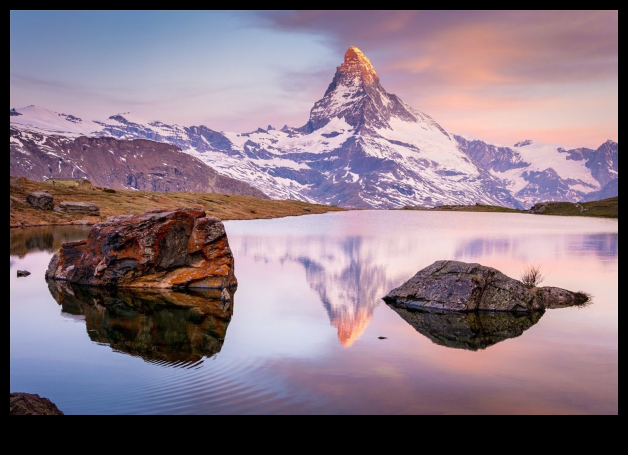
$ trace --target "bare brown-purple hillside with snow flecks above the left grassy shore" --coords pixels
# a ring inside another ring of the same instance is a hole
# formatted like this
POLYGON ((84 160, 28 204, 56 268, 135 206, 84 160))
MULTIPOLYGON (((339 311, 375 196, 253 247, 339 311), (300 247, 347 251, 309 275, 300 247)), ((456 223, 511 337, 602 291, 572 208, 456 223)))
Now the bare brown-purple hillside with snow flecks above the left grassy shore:
POLYGON ((31 180, 89 179, 114 189, 185 191, 268 199, 263 192, 220 175, 175 145, 112 137, 68 138, 11 128, 11 175, 31 180))

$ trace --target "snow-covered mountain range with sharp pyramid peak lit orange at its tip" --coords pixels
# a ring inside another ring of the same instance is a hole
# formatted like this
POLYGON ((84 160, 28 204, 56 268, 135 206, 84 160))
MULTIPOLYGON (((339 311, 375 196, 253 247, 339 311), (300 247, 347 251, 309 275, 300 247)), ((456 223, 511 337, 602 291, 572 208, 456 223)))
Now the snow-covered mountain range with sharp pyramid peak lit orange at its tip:
POLYGON ((274 199, 345 207, 522 207, 588 200, 617 189, 617 143, 565 150, 528 139, 502 147, 452 135, 387 93, 354 46, 300 128, 224 133, 129 113, 90 122, 38 107, 11 110, 11 125, 46 135, 166 142, 274 199))

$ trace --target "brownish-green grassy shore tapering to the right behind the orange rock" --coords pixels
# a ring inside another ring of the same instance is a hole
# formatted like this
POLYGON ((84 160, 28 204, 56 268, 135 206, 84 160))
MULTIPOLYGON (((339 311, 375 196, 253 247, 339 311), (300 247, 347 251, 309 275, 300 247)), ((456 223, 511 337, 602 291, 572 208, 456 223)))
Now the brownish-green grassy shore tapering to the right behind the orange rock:
POLYGON ((46 226, 63 224, 95 224, 108 216, 142 214, 149 209, 176 207, 203 207, 207 216, 220 219, 279 218, 330 211, 340 207, 308 204, 300 201, 274 201, 236 194, 161 193, 151 191, 125 191, 95 187, 89 182, 73 180, 55 185, 33 182, 23 177, 11 177, 11 228, 20 226, 46 226), (48 191, 60 202, 93 202, 100 207, 100 216, 84 216, 56 211, 42 211, 19 201, 33 191, 48 191))

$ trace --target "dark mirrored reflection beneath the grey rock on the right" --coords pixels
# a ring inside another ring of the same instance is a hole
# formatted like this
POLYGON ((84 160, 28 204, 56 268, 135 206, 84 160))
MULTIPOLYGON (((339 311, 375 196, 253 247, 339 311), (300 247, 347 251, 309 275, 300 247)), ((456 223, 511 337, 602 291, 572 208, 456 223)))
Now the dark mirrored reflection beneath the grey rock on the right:
POLYGON ((388 303, 417 332, 441 346, 477 351, 508 338, 519 337, 539 322, 543 311, 510 313, 507 311, 416 310, 398 303, 388 303))

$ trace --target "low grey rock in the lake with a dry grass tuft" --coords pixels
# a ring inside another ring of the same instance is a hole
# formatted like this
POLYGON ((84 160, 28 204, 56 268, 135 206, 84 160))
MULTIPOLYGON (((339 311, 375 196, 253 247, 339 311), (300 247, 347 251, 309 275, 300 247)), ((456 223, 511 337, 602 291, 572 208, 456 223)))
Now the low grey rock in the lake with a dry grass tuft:
POLYGON ((475 263, 436 261, 418 271, 384 300, 411 308, 447 311, 534 311, 586 303, 584 293, 529 288, 501 271, 475 263))

